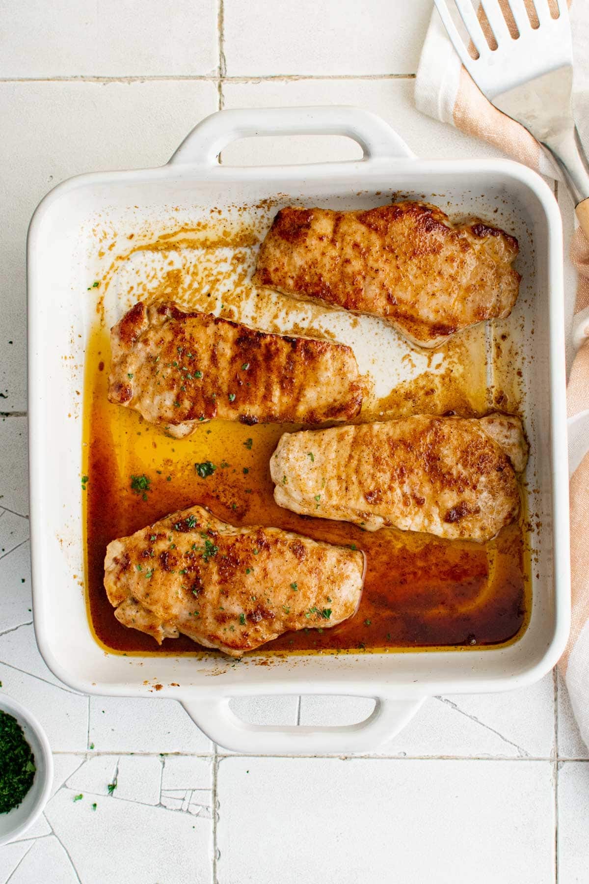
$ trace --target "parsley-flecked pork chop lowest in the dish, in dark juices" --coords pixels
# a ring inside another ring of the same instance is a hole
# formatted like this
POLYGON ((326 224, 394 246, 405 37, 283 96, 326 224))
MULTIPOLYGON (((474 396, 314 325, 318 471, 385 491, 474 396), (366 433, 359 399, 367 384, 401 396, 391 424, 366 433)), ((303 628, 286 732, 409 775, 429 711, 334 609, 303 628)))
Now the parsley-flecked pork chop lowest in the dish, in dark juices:
POLYGON ((336 626, 359 605, 364 553, 278 528, 235 528, 204 507, 107 547, 104 586, 124 626, 241 657, 289 629, 336 626))

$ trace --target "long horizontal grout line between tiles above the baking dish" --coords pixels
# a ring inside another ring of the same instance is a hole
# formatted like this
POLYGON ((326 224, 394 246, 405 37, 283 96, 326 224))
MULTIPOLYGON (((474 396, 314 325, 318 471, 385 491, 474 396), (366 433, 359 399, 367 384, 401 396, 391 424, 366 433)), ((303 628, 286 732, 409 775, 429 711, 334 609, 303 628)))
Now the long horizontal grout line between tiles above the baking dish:
MULTIPOLYGON (((222 44, 223 45, 223 44, 222 44)), ((221 50, 221 46, 220 46, 221 50)), ((221 61, 221 57, 220 57, 221 61)), ((227 76, 219 65, 216 74, 132 74, 120 77, 100 77, 92 75, 63 76, 63 77, 0 77, 0 83, 144 83, 160 82, 166 80, 216 83, 226 80, 230 83, 260 83, 260 82, 296 82, 298 80, 415 80, 414 73, 275 73, 275 74, 248 74, 246 76, 227 76)))

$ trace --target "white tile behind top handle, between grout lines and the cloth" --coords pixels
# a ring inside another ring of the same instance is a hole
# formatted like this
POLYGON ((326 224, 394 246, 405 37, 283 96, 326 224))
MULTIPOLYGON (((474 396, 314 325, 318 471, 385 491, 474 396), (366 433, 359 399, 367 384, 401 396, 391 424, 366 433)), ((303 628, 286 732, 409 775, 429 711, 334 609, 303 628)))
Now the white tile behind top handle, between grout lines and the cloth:
MULTIPOLYGON (((284 107, 304 104, 355 104, 386 119, 418 156, 502 156, 484 141, 467 138, 452 126, 424 117, 413 102, 414 80, 265 80, 223 84, 224 106, 284 107)), ((223 150, 223 162, 310 163, 361 156, 349 140, 313 136, 240 141, 223 150)))

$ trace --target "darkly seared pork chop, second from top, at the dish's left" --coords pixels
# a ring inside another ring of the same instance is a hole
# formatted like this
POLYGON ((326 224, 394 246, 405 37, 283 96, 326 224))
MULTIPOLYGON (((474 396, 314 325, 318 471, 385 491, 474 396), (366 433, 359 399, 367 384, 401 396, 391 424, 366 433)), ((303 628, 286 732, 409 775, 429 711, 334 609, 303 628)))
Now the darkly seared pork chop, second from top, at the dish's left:
POLYGON ((213 417, 317 424, 349 420, 362 407, 350 347, 254 331, 173 301, 135 304, 110 344, 109 401, 176 438, 213 417))

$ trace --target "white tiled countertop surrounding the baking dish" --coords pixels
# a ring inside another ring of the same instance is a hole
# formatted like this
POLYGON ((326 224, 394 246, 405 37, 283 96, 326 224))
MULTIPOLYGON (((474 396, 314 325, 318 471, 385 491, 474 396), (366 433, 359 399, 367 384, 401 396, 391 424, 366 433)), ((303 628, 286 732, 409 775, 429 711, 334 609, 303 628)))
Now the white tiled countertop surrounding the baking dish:
MULTIPOLYGON (((174 78, 216 73, 219 5, 0 3, 0 412, 26 410, 24 255, 35 205, 78 172, 166 162, 216 109, 215 80, 174 78), (52 77, 72 80, 2 81, 52 77), (137 80, 76 79, 126 77, 137 80)), ((579 18, 582 4, 574 7, 579 18)), ((430 10, 431 0, 223 0, 222 72, 226 65, 230 77, 248 79, 223 79, 224 106, 356 104, 386 118, 419 156, 500 156, 422 117, 414 80, 389 77, 416 71, 430 10), (364 79, 346 79, 358 75, 364 79)), ((335 137, 254 139, 224 150, 223 161, 360 155, 358 145, 335 137)), ((567 240, 568 197, 560 194, 559 203, 567 240)), ((570 289, 569 264, 565 275, 570 289)), ((0 418, 0 458, 0 680, 42 720, 56 751, 47 819, 0 849, 0 884, 214 884, 214 850, 215 884, 555 881, 555 765, 530 760, 555 751, 551 676, 500 696, 429 700, 382 747, 393 758, 222 757, 214 842, 214 747, 180 705, 80 697, 59 686, 32 628, 20 625, 31 618, 26 418, 0 418), (176 752, 195 754, 168 754, 176 752)), ((339 724, 371 707, 304 697, 300 720, 339 724)), ((233 708, 248 721, 293 724, 298 698, 242 698, 233 708)), ((589 758, 563 688, 556 724, 560 758, 589 758)), ((588 771, 589 764, 565 762, 557 774, 561 884, 589 884, 588 771)))

